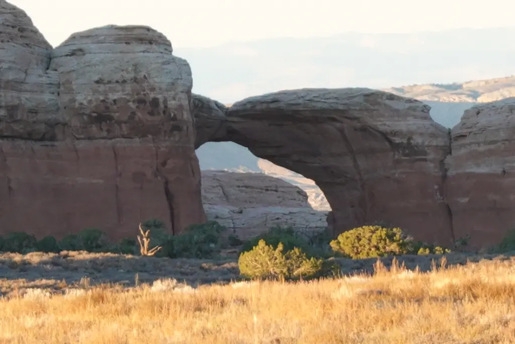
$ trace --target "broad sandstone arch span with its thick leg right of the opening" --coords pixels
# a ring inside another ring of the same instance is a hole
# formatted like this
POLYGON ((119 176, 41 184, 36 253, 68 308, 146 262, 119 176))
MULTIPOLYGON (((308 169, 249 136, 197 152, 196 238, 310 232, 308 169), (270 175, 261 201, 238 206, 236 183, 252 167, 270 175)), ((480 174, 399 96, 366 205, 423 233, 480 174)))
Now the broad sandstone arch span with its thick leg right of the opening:
MULTIPOLYGON (((210 141, 232 141, 312 179, 342 232, 375 221, 449 245, 447 129, 420 101, 370 89, 302 89, 233 104, 210 141)), ((197 122, 198 123, 198 122, 197 122)))

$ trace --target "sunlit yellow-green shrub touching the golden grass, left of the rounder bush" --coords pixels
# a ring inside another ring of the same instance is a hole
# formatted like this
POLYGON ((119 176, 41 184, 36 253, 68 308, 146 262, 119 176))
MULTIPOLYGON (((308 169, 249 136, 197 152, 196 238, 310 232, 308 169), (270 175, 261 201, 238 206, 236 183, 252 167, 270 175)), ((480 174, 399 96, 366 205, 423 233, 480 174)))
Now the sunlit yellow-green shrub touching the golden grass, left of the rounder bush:
POLYGON ((310 279, 317 277, 323 268, 323 259, 316 259, 302 252, 298 247, 283 253, 284 245, 277 248, 266 245, 260 239, 258 245, 250 251, 243 252, 238 259, 242 276, 251 279, 310 279))

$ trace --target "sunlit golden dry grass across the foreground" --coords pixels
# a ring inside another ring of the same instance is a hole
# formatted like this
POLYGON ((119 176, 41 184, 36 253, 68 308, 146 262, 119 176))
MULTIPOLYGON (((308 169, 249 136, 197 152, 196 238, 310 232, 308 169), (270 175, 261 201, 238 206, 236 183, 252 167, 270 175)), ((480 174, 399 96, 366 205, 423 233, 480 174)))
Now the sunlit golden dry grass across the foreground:
POLYGON ((41 289, 0 299, 0 343, 515 343, 514 263, 378 264, 373 277, 295 284, 41 289))

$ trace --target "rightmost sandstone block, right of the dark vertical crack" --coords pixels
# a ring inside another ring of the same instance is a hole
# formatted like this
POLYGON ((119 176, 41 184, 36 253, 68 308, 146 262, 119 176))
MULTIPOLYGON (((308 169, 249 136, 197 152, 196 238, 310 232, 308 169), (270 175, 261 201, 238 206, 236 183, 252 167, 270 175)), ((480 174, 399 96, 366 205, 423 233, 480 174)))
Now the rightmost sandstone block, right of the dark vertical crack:
POLYGON ((470 245, 499 243, 515 228, 515 98, 465 111, 452 131, 445 160, 447 191, 456 238, 470 245))

